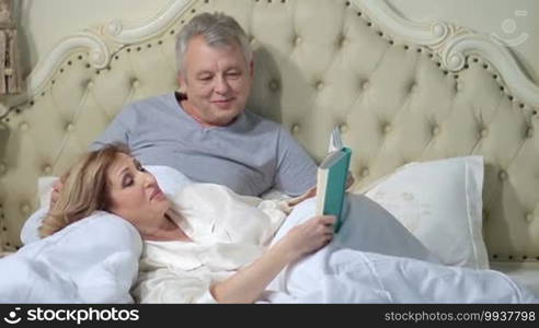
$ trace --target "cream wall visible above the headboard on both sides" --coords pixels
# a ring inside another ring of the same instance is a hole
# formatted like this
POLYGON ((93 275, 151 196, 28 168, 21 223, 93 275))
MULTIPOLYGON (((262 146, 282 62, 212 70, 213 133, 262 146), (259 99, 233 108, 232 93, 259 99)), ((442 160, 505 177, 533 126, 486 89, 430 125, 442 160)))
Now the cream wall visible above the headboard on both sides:
MULTIPOLYGON (((23 71, 65 35, 113 19, 137 21, 151 16, 174 0, 16 0, 21 4, 23 71)), ((176 0, 179 1, 179 0, 176 0)), ((403 16, 415 21, 440 19, 480 33, 495 33, 516 42, 512 50, 530 78, 539 81, 538 0, 386 0, 403 16), (526 13, 526 15, 518 15, 526 13)))

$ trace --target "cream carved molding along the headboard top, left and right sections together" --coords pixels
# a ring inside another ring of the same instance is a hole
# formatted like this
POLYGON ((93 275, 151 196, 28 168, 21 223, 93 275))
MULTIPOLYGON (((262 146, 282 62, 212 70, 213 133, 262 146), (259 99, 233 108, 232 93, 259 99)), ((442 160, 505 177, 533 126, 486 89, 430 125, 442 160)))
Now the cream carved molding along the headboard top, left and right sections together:
MULTIPOLYGON (((148 39, 167 30, 195 0, 171 0, 153 17, 140 24, 127 24, 115 20, 93 31, 87 31, 64 38, 42 60, 26 80, 27 96, 41 92, 51 79, 59 63, 76 49, 90 49, 91 63, 96 68, 108 65, 113 49, 123 45, 148 39)), ((395 13, 385 1, 351 0, 372 20, 375 25, 395 38, 415 43, 437 54, 445 68, 459 71, 470 55, 479 55, 497 68, 509 92, 532 106, 539 106, 539 87, 521 71, 507 48, 493 42, 489 36, 477 34, 454 24, 433 20, 411 22, 395 13)))

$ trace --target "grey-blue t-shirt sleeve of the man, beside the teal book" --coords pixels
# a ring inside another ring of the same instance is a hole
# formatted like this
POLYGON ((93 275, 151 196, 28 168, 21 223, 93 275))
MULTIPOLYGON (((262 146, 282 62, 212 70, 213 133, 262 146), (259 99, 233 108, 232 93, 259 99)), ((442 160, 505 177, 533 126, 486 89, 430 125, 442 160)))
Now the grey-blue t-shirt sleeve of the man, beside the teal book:
POLYGON ((294 137, 279 127, 275 187, 289 196, 299 196, 317 184, 317 164, 294 137))

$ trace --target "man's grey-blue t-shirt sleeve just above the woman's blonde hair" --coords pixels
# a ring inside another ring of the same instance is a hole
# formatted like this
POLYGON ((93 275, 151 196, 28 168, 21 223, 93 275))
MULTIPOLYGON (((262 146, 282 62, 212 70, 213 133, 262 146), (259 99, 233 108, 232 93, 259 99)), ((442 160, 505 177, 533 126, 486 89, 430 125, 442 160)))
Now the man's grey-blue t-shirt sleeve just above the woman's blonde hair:
POLYGON ((135 110, 133 105, 125 107, 106 127, 95 141, 90 144, 90 151, 99 150, 106 144, 124 143, 129 145, 129 133, 135 110))

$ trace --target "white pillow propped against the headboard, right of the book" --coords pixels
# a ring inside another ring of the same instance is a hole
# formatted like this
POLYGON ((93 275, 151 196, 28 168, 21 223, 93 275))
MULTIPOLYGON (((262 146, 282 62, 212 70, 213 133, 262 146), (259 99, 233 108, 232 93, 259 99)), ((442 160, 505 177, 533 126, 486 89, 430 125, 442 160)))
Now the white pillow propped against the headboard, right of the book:
POLYGON ((365 196, 393 214, 444 265, 488 269, 482 236, 483 157, 410 163, 365 196))

